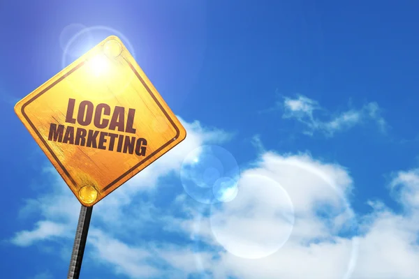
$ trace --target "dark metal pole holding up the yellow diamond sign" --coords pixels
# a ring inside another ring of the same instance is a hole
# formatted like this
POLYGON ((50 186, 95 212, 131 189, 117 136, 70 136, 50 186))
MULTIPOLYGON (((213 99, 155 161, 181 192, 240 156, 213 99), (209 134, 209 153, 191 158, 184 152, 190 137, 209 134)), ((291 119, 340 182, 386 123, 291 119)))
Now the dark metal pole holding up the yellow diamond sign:
POLYGON ((91 211, 93 206, 86 207, 82 205, 78 220, 77 230, 75 232, 73 252, 71 253, 70 267, 68 268, 67 279, 78 279, 86 247, 87 233, 89 232, 91 211))

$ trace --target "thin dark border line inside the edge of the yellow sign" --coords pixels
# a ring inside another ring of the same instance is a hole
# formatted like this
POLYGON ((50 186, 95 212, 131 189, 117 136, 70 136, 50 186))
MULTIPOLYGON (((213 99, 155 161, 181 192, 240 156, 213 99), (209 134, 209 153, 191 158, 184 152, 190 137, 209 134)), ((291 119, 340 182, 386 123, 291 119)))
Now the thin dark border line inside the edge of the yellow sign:
MULTIPOLYGON (((165 144, 163 144, 162 146, 160 146, 159 149, 156 149, 153 153, 149 154, 149 156, 147 156, 147 157, 143 158, 142 160, 140 160, 139 163, 137 163, 136 165, 134 165, 133 167, 131 167, 130 169, 128 169, 126 172, 124 172, 124 174, 121 174, 120 176, 117 177, 117 179, 115 179, 114 181, 112 181, 111 183, 109 183, 107 186, 105 186, 104 188, 102 188, 100 190, 100 193, 103 193, 106 190, 109 190, 118 181, 120 181, 121 179, 124 179, 131 172, 133 172, 133 170, 137 169, 142 164, 144 164, 145 162, 147 162, 147 160, 149 160, 149 158, 152 158, 153 156, 156 156, 157 153, 159 153, 160 151, 162 151, 163 149, 165 149, 169 144, 171 144, 172 142, 175 142, 175 140, 177 140, 177 138, 179 138, 179 135, 180 135, 179 127, 177 127, 176 124, 175 124, 175 121, 173 121, 173 119, 170 118, 170 115, 168 114, 168 112, 166 112, 166 110, 163 107, 163 105, 161 105, 161 103, 159 102, 159 99, 156 98, 156 96, 154 95, 153 91, 149 88, 149 86, 147 85, 147 82, 145 82, 145 80, 141 77, 140 73, 138 73, 138 70, 135 69, 135 66, 133 66, 133 64, 130 61, 128 61, 128 59, 126 59, 126 57, 123 56, 123 58, 128 63, 128 66, 131 68, 131 70, 133 70, 133 73, 135 73, 135 76, 138 77, 138 80, 140 80, 140 82, 145 87, 145 89, 147 89, 147 92, 153 98, 154 102, 156 102, 156 104, 159 106, 159 108, 161 109, 161 111, 163 112, 163 114, 166 116, 166 118, 168 119, 168 121, 170 121, 170 123, 172 124, 173 128, 175 128, 176 135, 174 137, 172 137, 172 139, 170 139, 168 142, 166 142, 165 144)), ((52 84, 49 84, 41 92, 37 93, 35 96, 33 96, 32 98, 30 98, 29 100, 27 100, 27 102, 25 102, 24 104, 22 104, 22 107, 21 107, 22 116, 24 116, 24 118, 27 120, 27 122, 29 123, 29 125, 31 126, 31 128, 34 130, 34 132, 36 133, 36 135, 38 135, 38 138, 41 140, 41 142, 43 142, 43 144, 47 148, 47 150, 50 151, 50 154, 52 155, 52 157, 54 158, 54 160, 57 161, 59 167, 61 167, 62 171, 64 172, 64 174, 66 174, 66 176, 68 177, 68 179, 70 179, 71 183, 73 183, 73 186, 74 187, 77 186, 77 183, 75 183, 75 180, 73 179, 73 177, 71 177, 71 175, 68 172, 68 170, 64 167, 64 165, 58 159, 57 155, 55 155, 55 153, 52 151, 51 147, 47 144, 47 142, 45 141, 45 139, 42 137, 41 133, 39 133, 39 131, 36 129, 36 127, 34 126, 34 123, 32 123, 32 121, 29 119, 29 117, 27 116, 27 114, 24 112, 24 109, 25 109, 25 107, 27 107, 27 105, 29 105, 30 103, 32 103, 34 100, 36 100, 37 98, 39 98, 41 95, 43 95, 44 93, 46 93, 47 91, 49 91, 56 84, 58 84, 59 82, 61 82, 62 80, 64 80, 66 77, 68 77, 68 75, 71 75, 71 73, 75 72, 75 70, 78 70, 78 68, 80 68, 81 66, 83 66, 84 63, 86 63, 85 60, 84 61, 81 61, 78 65, 74 66, 71 70, 68 70, 67 73, 65 73, 64 75, 62 75, 61 77, 59 77, 57 80, 55 80, 54 82, 52 82, 52 84)))

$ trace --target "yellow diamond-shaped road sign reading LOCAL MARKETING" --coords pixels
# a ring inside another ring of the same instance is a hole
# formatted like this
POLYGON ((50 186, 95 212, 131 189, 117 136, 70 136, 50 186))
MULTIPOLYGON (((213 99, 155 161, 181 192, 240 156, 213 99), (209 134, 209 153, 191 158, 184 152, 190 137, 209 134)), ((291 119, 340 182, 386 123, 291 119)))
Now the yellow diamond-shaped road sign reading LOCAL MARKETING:
POLYGON ((84 206, 182 142, 186 130, 116 36, 15 105, 84 206))

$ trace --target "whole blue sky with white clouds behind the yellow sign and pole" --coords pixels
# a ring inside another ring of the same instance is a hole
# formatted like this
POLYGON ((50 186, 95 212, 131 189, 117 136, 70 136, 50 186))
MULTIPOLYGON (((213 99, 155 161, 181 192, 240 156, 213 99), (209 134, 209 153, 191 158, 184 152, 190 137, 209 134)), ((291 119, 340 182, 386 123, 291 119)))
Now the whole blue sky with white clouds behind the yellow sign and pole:
POLYGON ((418 278, 418 8, 4 1, 5 278, 64 277, 80 207, 13 106, 109 35, 188 137, 94 207, 81 278, 418 278), (214 162, 238 190, 205 204, 214 162))

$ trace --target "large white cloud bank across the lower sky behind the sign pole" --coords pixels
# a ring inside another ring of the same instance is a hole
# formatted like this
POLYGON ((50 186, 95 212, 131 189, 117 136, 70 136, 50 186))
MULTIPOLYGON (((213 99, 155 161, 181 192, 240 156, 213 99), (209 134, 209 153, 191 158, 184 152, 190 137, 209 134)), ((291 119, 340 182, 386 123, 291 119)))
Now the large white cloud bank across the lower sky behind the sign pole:
MULTIPOLYGON (((214 136, 221 132, 208 132, 197 123, 184 124, 188 142, 95 206, 91 257, 110 271, 128 278, 187 278, 203 272, 215 279, 418 278, 418 170, 398 172, 390 183, 404 206, 400 213, 376 201, 369 202, 372 213, 355 216, 348 203, 354 188, 348 170, 304 153, 263 152, 242 169, 237 198, 231 202, 209 209, 183 193, 171 204, 155 204, 152 197, 159 193, 162 177, 179 171, 196 146, 222 138, 214 136), (144 202, 142 195, 150 199, 144 202), (149 227, 167 237, 145 241, 142 234, 149 227)), ((17 245, 58 236, 71 245, 73 236, 60 225, 75 227, 78 203, 64 185, 53 195, 70 209, 47 202, 52 196, 29 202, 26 210, 36 208, 43 220, 33 231, 18 232, 17 245)))

